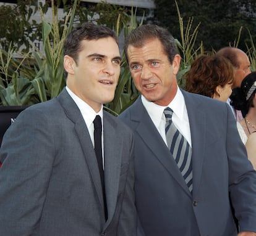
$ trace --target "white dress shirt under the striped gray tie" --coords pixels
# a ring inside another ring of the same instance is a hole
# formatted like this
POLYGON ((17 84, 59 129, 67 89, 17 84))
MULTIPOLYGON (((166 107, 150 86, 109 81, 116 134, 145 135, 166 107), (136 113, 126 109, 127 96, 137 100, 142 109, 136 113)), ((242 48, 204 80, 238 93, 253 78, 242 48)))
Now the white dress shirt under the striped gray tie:
MULTIPOLYGON (((151 120, 156 126, 156 129, 158 130, 165 144, 167 145, 165 134, 166 120, 163 113, 166 107, 150 102, 147 99, 145 99, 144 96, 142 96, 142 104, 146 108, 148 115, 150 116, 151 120)), ((179 87, 177 89, 176 96, 167 107, 173 110, 173 123, 175 124, 177 129, 179 129, 181 134, 187 139, 187 142, 189 142, 190 147, 192 147, 189 116, 187 115, 185 100, 179 87)))

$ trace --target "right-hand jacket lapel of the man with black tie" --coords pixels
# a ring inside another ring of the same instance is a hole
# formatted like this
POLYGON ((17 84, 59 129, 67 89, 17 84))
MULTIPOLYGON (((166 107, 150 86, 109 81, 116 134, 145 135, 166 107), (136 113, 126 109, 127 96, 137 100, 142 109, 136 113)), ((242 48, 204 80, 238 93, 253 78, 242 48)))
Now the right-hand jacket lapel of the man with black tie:
POLYGON ((116 209, 117 193, 122 161, 122 137, 116 133, 115 124, 104 113, 104 161, 105 161, 105 189, 108 205, 108 222, 111 221, 116 209))

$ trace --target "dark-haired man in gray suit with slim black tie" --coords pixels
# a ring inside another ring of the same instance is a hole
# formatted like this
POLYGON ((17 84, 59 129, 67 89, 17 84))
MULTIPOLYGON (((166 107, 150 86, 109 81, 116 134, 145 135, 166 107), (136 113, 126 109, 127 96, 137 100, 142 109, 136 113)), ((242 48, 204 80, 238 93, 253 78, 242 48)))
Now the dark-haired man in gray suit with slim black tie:
POLYGON ((85 24, 67 36, 66 88, 20 113, 2 140, 0 235, 135 235, 134 137, 103 111, 120 63, 109 28, 85 24))

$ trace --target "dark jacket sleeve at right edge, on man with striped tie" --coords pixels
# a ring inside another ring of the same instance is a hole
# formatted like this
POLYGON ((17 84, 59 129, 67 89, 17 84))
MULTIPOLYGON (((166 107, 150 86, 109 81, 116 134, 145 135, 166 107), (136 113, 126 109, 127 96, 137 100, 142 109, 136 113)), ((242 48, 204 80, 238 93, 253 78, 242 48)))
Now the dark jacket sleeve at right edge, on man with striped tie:
POLYGON ((240 231, 256 232, 256 172, 237 134, 236 121, 228 113, 226 150, 229 161, 229 192, 240 231))

